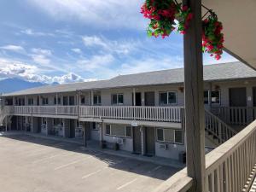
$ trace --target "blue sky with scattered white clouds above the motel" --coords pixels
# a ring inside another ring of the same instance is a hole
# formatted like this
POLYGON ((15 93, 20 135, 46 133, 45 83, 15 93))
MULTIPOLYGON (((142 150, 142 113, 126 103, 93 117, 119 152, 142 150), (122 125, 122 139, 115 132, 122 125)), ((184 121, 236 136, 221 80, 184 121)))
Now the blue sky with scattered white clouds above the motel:
MULTIPOLYGON (((183 36, 148 38, 141 0, 0 2, 0 79, 109 79, 183 67, 183 36)), ((204 63, 220 61, 204 55, 204 63)))

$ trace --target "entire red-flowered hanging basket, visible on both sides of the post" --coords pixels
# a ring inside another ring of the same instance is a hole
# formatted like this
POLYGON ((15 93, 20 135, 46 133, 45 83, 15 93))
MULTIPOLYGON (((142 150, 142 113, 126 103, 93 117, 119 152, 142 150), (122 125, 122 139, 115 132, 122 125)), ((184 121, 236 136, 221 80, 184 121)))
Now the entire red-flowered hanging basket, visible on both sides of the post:
MULTIPOLYGON (((185 34, 189 28, 190 20, 193 19, 191 9, 182 3, 177 3, 176 0, 146 0, 141 8, 141 13, 150 20, 147 30, 148 36, 155 38, 160 36, 166 38, 174 30, 185 34)), ((219 60, 224 48, 223 27, 212 10, 207 9, 208 13, 210 15, 202 22, 202 51, 219 60)))

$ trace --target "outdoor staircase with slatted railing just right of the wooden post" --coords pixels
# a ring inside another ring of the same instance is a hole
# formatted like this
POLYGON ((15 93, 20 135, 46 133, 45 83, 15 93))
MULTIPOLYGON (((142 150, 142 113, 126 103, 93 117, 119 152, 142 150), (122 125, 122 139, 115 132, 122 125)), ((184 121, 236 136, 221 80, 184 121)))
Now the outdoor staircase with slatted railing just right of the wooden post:
POLYGON ((230 125, 224 123, 223 120, 219 119, 207 109, 205 109, 205 120, 206 137, 214 143, 215 147, 236 135, 236 131, 233 130, 230 125))

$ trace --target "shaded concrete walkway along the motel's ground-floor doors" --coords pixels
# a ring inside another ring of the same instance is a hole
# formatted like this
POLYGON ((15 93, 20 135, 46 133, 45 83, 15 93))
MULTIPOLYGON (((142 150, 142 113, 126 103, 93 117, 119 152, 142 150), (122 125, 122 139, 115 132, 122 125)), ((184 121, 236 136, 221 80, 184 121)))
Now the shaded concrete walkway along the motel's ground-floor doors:
POLYGON ((71 139, 71 138, 63 138, 63 137, 55 137, 55 136, 44 136, 42 134, 38 134, 38 133, 30 133, 30 132, 25 132, 25 131, 8 131, 8 132, 0 132, 0 136, 8 136, 8 135, 27 135, 27 136, 31 136, 31 137, 40 137, 40 138, 44 138, 44 139, 50 139, 50 140, 55 140, 55 141, 59 141, 59 142, 63 142, 63 143, 73 143, 73 144, 78 144, 81 145, 81 149, 91 149, 91 150, 95 150, 101 153, 105 153, 105 154, 113 154, 113 155, 117 155, 120 157, 124 157, 124 158, 131 158, 134 160, 141 160, 141 161, 145 161, 145 162, 150 162, 150 163, 156 163, 160 166, 172 166, 174 168, 177 169, 182 169, 183 167, 185 167, 185 164, 177 161, 177 160, 172 160, 172 159, 168 159, 168 158, 164 158, 164 157, 148 157, 148 156, 144 156, 141 154, 131 154, 127 151, 123 151, 123 150, 118 150, 115 151, 111 148, 100 148, 100 144, 96 141, 88 141, 87 142, 87 147, 84 147, 83 145, 83 141, 79 140, 79 139, 71 139))

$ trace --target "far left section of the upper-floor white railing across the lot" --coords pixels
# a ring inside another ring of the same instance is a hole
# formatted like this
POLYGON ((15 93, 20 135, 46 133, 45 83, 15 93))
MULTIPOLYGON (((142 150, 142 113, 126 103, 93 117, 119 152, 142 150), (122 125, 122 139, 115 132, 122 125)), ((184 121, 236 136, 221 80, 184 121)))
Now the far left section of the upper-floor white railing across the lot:
POLYGON ((14 106, 13 113, 78 115, 77 106, 14 106))

